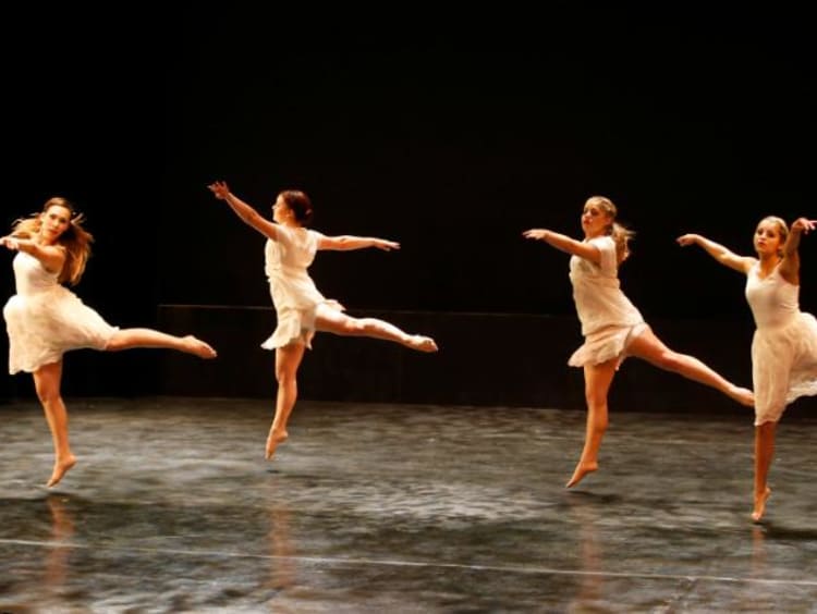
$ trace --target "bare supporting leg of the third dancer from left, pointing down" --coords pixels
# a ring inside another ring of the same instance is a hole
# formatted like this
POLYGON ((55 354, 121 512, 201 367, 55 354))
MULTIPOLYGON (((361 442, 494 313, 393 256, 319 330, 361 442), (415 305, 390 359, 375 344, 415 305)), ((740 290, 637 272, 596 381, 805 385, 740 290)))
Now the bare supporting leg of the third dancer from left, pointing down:
POLYGON ((578 465, 573 470, 573 477, 565 488, 576 486, 587 474, 598 469, 598 451, 608 423, 607 393, 615 376, 617 361, 618 359, 613 358, 601 365, 585 365, 584 394, 587 400, 587 426, 584 447, 578 465))

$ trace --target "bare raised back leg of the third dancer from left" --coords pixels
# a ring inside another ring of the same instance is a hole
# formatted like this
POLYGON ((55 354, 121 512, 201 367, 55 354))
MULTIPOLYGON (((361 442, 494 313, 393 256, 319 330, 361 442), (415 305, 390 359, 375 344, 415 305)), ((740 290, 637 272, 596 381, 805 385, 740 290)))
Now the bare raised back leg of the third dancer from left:
POLYGON ((755 395, 751 390, 736 386, 723 379, 694 356, 673 352, 651 330, 646 330, 635 337, 627 347, 627 353, 643 358, 656 367, 714 388, 741 405, 752 407, 755 404, 755 395))

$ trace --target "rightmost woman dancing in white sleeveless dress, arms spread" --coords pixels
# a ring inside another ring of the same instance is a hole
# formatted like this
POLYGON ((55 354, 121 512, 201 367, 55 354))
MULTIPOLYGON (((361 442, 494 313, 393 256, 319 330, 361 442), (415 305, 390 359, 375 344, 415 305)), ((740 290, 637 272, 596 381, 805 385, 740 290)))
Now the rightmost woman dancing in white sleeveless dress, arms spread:
POLYGON ((755 320, 752 379, 755 389, 755 492, 752 519, 760 520, 771 494, 769 468, 775 432, 785 407, 795 398, 817 394, 817 319, 800 310, 800 240, 817 220, 798 218, 791 232, 769 216, 755 230, 757 258, 737 256, 699 234, 684 234, 679 244, 698 245, 721 265, 746 275, 746 300, 755 320))

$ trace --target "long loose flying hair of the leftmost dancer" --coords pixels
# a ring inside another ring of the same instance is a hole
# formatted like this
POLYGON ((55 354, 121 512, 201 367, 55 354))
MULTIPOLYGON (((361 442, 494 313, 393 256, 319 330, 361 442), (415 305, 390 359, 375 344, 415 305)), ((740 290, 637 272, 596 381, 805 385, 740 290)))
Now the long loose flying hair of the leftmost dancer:
POLYGON ((69 225, 59 238, 57 245, 62 246, 65 249, 65 262, 60 271, 59 281, 60 283, 70 283, 76 285, 85 272, 85 265, 88 262, 90 257, 90 244, 94 242, 94 235, 90 234, 83 228, 85 217, 82 213, 77 213, 74 206, 62 198, 61 196, 54 196, 46 200, 42 206, 42 210, 39 213, 34 213, 28 218, 21 218, 15 220, 12 224, 12 236, 21 238, 33 238, 37 235, 42 228, 42 213, 48 211, 51 207, 62 207, 70 213, 69 225))

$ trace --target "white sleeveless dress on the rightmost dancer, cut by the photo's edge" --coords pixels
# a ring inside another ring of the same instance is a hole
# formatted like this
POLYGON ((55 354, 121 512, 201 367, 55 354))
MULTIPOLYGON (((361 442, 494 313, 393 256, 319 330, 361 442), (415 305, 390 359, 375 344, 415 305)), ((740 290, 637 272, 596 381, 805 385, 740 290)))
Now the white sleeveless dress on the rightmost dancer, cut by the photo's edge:
POLYGON ((761 279, 755 262, 746 274, 746 300, 757 327, 752 380, 758 426, 780 420, 795 398, 817 394, 817 320, 800 310, 800 286, 779 269, 761 279))

